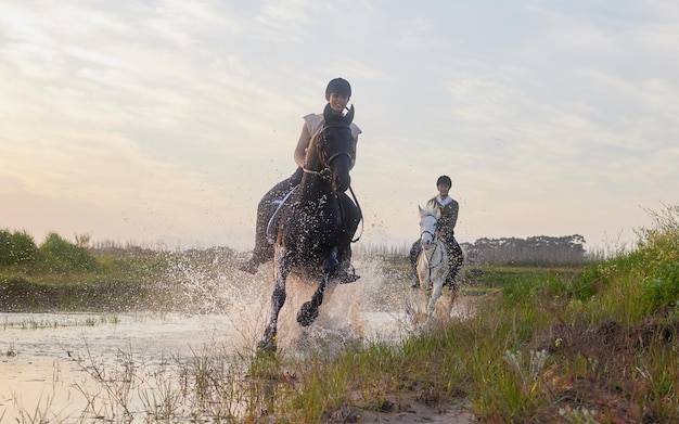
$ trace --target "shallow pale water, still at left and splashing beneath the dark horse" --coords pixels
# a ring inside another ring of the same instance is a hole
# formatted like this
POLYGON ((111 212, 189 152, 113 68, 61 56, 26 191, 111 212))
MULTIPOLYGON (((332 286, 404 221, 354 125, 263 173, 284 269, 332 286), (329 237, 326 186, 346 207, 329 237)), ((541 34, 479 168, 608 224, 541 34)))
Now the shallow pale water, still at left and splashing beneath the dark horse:
MULTIPOLYGON (((290 282, 279 321, 282 349, 341 346, 348 339, 398 341, 417 331, 405 311, 421 301, 418 295, 398 284, 386 284, 370 264, 357 268, 361 280, 330 291, 319 319, 309 329, 297 325, 295 312, 310 298, 313 285, 290 282)), ((190 359, 207 348, 253 349, 268 320, 271 282, 264 271, 252 280, 225 279, 213 287, 215 296, 234 300, 223 311, 0 313, 0 422, 82 422, 82 411, 92 409, 88 401, 101 390, 93 382, 117 378, 119 375, 112 374, 128 372, 126 363, 133 362, 134 372, 151 376, 168 363, 190 359), (102 371, 104 375, 93 377, 102 371)), ((464 306, 453 310, 467 312, 464 306)), ((154 384, 152 377, 145 383, 154 384)), ((130 406, 143 410, 143 401, 129 396, 130 406)))

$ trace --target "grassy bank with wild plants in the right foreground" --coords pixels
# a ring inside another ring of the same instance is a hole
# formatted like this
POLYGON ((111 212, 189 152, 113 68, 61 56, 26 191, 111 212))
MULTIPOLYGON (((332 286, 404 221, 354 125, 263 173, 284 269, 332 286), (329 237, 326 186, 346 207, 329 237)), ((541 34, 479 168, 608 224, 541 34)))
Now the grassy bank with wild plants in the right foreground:
POLYGON ((272 362, 276 422, 358 422, 412 397, 464 399, 487 423, 679 422, 678 217, 668 208, 632 253, 577 272, 472 268, 472 286, 499 291, 402 345, 272 362))

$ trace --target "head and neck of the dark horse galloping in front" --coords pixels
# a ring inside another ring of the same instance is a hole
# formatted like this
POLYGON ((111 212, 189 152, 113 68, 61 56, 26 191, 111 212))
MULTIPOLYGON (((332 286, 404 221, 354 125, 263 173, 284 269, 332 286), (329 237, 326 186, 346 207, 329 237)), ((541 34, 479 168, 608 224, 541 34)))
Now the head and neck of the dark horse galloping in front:
POLYGON ((307 172, 319 174, 333 192, 345 192, 351 184, 349 171, 356 160, 356 139, 351 134, 354 105, 346 115, 334 112, 330 104, 323 111, 325 124, 307 150, 307 172))

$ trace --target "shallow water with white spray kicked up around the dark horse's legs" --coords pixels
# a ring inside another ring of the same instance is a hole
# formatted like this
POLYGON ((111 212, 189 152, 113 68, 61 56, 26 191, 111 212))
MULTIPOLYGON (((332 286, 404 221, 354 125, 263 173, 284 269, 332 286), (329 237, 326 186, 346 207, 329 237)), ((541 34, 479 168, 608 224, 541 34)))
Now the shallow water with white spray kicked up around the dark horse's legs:
MULTIPOLYGON (((78 416, 87 407, 85 400, 74 400, 73 391, 78 384, 88 387, 82 364, 115 368, 121 352, 143 365, 145 375, 154 375, 168 358, 190 360, 206 346, 230 352, 255 349, 269 319, 272 269, 261 266, 251 275, 238 270, 241 258, 219 252, 198 259, 172 258, 167 278, 156 283, 171 295, 172 311, 0 313, 0 416, 17 421, 21 411, 44 409, 78 416)), ((296 313, 316 283, 291 275, 279 348, 304 355, 347 343, 398 343, 418 331, 407 310, 426 303, 410 290, 410 281, 385 273, 380 260, 356 259, 361 279, 329 286, 309 327, 296 322, 296 313)))

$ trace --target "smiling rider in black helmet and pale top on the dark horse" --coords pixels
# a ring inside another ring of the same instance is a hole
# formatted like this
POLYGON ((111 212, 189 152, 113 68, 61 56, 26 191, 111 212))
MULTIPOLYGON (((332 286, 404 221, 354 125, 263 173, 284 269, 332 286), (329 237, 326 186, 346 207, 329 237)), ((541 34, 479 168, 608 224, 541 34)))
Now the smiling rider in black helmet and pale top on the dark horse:
MULTIPOLYGON (((351 86, 343 78, 332 79, 328 83, 325 89, 325 100, 332 108, 333 113, 343 114, 346 110, 347 103, 351 97, 351 86)), ((273 258, 273 241, 267 236, 267 227, 269 220, 273 216, 280 202, 293 191, 302 181, 304 175, 304 162, 306 157, 306 151, 311 142, 313 136, 322 128, 325 119, 323 114, 309 114, 304 117, 304 125, 302 127, 302 134, 297 141, 297 146, 293 158, 297 164, 295 172, 285 180, 276 184, 269 190, 259 204, 257 205, 257 223, 255 227, 255 248, 253 256, 241 265, 240 269, 252 274, 257 272, 259 265, 271 260, 273 258)), ((361 133, 360 128, 356 124, 350 125, 351 134, 354 136, 355 143, 358 143, 358 134, 361 133)), ((356 158, 355 158, 356 159, 356 158)), ((360 210, 351 202, 351 200, 345 194, 340 194, 340 200, 343 205, 344 219, 347 227, 356 228, 358 221, 361 219, 360 210)), ((350 245, 343 246, 345 249, 350 249, 350 245)))

